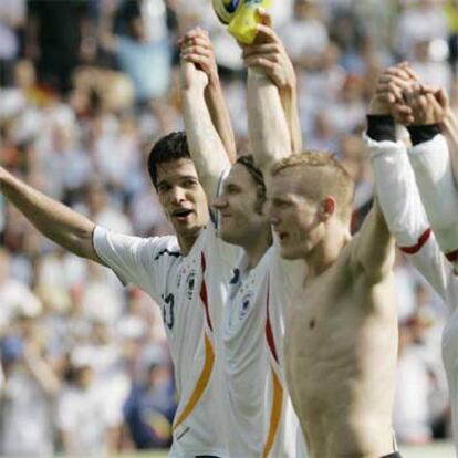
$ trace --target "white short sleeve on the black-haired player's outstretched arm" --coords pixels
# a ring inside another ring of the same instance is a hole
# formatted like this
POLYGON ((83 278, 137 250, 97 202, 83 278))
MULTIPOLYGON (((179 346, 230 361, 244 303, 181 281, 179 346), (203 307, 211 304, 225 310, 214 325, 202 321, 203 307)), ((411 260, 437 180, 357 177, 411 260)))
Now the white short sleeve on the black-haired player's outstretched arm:
POLYGON ((97 226, 93 235, 94 249, 123 284, 133 283, 158 301, 157 292, 166 282, 165 260, 180 257, 174 237, 139 238, 108 231, 97 226), (166 256, 164 256, 166 254, 166 256))

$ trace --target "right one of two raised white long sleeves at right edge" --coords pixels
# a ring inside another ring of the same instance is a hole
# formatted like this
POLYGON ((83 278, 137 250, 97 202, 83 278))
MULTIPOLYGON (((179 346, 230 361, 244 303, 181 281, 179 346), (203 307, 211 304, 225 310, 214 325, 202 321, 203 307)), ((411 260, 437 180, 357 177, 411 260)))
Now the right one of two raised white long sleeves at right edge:
POLYGON ((458 267, 458 191, 451 171, 446 138, 438 134, 409 148, 421 201, 437 241, 446 257, 458 267))

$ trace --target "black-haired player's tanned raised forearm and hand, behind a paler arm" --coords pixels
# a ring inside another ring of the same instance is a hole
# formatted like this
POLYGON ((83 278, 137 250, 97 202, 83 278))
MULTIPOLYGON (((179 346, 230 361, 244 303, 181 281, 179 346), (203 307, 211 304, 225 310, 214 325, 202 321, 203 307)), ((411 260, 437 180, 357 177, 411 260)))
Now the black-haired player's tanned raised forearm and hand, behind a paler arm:
POLYGON ((231 164, 237 158, 236 137, 228 106, 222 94, 218 69, 215 61, 214 46, 207 31, 196 28, 189 31, 180 41, 183 58, 196 64, 208 77, 205 87, 205 101, 210 113, 211 122, 225 146, 231 164))

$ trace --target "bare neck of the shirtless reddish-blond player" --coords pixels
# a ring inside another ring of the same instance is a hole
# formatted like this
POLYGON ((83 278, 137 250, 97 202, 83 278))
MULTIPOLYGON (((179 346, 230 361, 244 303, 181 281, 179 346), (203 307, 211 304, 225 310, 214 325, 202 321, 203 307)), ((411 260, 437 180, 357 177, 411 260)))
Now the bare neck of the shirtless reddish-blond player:
POLYGON ((308 277, 312 279, 326 271, 336 261, 351 239, 348 227, 342 222, 332 225, 332 229, 326 228, 323 239, 305 259, 308 277))

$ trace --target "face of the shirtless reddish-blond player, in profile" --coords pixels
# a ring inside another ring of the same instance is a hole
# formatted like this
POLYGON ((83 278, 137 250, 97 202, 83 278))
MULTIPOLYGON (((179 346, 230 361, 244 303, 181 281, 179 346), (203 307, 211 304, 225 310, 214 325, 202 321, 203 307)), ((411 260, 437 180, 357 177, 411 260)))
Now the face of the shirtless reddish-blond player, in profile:
POLYGON ((323 239, 320 202, 304 196, 291 169, 281 170, 271 179, 269 216, 282 258, 306 259, 323 239))

